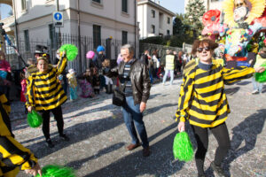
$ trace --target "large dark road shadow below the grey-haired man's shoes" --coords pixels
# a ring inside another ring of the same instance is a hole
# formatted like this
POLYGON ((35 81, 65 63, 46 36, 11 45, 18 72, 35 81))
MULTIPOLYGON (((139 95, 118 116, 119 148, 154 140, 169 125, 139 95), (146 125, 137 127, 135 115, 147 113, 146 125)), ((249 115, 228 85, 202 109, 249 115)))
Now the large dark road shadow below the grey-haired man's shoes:
MULTIPOLYGON (((153 141, 159 135, 165 134, 176 127, 176 123, 160 130, 152 135, 149 140, 153 141)), ((150 174, 154 176, 168 176, 181 170, 184 162, 174 159, 172 147, 177 132, 173 132, 151 146, 152 154, 148 158, 142 157, 142 148, 123 157, 111 165, 107 165, 98 171, 88 173, 86 177, 98 176, 141 176, 150 174)))

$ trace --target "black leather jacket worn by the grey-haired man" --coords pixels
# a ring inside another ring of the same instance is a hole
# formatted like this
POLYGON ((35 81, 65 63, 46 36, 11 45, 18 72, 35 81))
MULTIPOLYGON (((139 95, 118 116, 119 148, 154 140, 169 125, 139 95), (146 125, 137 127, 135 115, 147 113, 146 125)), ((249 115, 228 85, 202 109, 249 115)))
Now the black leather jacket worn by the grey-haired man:
MULTIPOLYGON (((111 69, 111 72, 107 74, 108 77, 118 76, 120 86, 124 67, 125 62, 121 61, 119 65, 111 69)), ((141 102, 146 103, 150 96, 150 76, 147 66, 135 58, 133 58, 133 62, 130 66, 130 81, 132 84, 134 104, 140 104, 141 102)))

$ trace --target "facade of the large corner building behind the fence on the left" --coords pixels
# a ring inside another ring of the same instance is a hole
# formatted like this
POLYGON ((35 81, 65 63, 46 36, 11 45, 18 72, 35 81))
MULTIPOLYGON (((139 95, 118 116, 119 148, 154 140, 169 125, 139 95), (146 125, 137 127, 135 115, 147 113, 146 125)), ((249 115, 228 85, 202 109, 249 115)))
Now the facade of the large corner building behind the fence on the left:
MULTIPOLYGON (((35 50, 35 46, 30 45, 32 41, 48 42, 51 47, 60 34, 67 34, 71 38, 68 42, 81 41, 82 39, 77 39, 80 36, 87 37, 90 46, 81 46, 84 52, 95 50, 98 45, 106 45, 106 39, 110 39, 116 47, 113 49, 115 51, 112 58, 117 56, 120 46, 124 43, 129 42, 136 48, 138 46, 136 1, 0 0, 0 3, 12 6, 14 15, 0 22, 4 22, 4 29, 8 35, 17 37, 14 37, 14 41, 19 42, 20 51, 35 50), (59 28, 53 26, 52 13, 57 11, 63 13, 63 27, 60 27, 60 33, 59 28), (20 46, 20 41, 24 41, 23 46, 20 46)), ((60 42, 64 43, 62 36, 60 42)))

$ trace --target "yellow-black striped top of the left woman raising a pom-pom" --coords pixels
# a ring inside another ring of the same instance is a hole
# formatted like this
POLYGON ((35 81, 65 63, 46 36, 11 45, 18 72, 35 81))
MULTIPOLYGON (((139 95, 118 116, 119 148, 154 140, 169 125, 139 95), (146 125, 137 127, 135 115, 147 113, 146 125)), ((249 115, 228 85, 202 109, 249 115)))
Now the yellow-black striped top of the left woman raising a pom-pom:
POLYGON ((36 111, 51 110, 66 102, 66 93, 57 77, 66 68, 66 58, 59 60, 57 67, 47 73, 32 73, 27 78, 27 106, 35 107, 36 111))

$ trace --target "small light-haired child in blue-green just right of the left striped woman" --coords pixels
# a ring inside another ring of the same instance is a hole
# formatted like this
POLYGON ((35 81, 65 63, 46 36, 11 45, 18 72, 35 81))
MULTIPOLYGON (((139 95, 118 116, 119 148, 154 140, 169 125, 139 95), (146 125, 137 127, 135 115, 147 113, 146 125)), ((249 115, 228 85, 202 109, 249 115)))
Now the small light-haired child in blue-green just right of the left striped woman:
POLYGON ((70 89, 70 101, 74 101, 77 99, 77 81, 75 78, 75 72, 74 69, 69 69, 68 73, 66 74, 66 78, 68 80, 69 89, 70 89))

